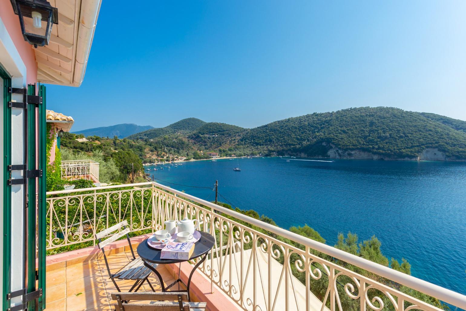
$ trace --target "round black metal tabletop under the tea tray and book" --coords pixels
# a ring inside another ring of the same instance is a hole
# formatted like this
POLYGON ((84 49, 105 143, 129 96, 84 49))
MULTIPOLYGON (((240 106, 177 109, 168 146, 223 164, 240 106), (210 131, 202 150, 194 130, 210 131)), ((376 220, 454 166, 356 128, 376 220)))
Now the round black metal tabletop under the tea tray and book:
MULTIPOLYGON (((188 260, 205 255, 207 252, 209 252, 212 249, 215 243, 214 238, 209 233, 202 232, 202 231, 199 231, 199 233, 201 234, 201 238, 199 239, 199 241, 194 243, 194 251, 192 252, 191 258, 189 258, 188 260)), ((160 251, 161 250, 158 250, 158 249, 155 249, 149 246, 147 244, 147 238, 137 246, 137 254, 139 255, 139 257, 141 257, 143 260, 147 262, 164 265, 164 264, 176 264, 176 263, 180 263, 183 261, 187 261, 187 260, 161 259, 160 251)))

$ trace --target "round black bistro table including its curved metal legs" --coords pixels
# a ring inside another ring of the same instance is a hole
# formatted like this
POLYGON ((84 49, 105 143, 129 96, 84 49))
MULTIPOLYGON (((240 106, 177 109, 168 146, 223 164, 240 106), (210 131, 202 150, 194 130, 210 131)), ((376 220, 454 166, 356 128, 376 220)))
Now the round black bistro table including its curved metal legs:
POLYGON ((206 260, 207 253, 212 249, 212 247, 213 247, 213 245, 215 243, 215 239, 212 237, 211 234, 209 234, 207 232, 202 232, 202 231, 199 231, 199 232, 201 234, 201 238, 199 239, 199 241, 194 243, 194 251, 192 252, 191 258, 189 258, 188 260, 199 258, 201 256, 203 256, 203 257, 194 266, 194 268, 192 268, 192 271, 191 271, 191 273, 189 275, 189 278, 188 278, 188 284, 185 284, 181 280, 181 278, 179 278, 179 275, 178 275, 178 280, 176 280, 175 282, 173 282, 170 285, 168 285, 167 287, 165 287, 164 286, 164 280, 162 279, 162 276, 160 275, 160 273, 158 273, 157 269, 155 269, 154 267, 152 267, 151 265, 148 264, 148 263, 159 264, 159 265, 178 264, 178 263, 182 263, 182 262, 188 261, 188 260, 161 259, 160 258, 160 250, 152 248, 151 246, 149 246, 147 244, 148 238, 146 238, 143 242, 141 242, 137 246, 137 254, 139 255, 139 257, 141 257, 143 259, 144 265, 146 267, 148 267, 149 269, 151 269, 151 271, 153 271, 157 275, 158 280, 160 281, 160 286, 162 287, 162 291, 167 291, 173 285, 177 284, 178 282, 181 282, 187 288, 187 290, 183 291, 183 292, 188 293, 188 301, 191 301, 191 297, 189 295, 189 286, 191 285, 192 274, 194 273, 194 271, 196 271, 196 269, 199 267, 199 265, 201 265, 204 262, 204 260, 206 260))

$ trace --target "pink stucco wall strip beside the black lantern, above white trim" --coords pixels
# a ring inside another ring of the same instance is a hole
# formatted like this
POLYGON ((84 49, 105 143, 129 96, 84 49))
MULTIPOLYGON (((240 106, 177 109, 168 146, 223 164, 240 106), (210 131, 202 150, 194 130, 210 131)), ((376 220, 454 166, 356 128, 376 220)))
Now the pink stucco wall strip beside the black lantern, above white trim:
POLYGON ((37 63, 35 61, 34 47, 27 43, 21 33, 21 25, 18 15, 13 11, 11 2, 0 0, 0 18, 7 28, 8 34, 13 40, 21 59, 27 69, 27 83, 37 82, 37 63))

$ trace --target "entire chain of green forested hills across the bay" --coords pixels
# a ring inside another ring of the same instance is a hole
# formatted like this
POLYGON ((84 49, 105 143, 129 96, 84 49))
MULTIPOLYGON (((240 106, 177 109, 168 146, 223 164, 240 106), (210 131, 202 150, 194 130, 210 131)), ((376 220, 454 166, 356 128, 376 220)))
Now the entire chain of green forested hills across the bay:
POLYGON ((391 107, 312 113, 253 129, 199 119, 128 137, 192 156, 251 153, 353 159, 466 160, 466 122, 391 107))

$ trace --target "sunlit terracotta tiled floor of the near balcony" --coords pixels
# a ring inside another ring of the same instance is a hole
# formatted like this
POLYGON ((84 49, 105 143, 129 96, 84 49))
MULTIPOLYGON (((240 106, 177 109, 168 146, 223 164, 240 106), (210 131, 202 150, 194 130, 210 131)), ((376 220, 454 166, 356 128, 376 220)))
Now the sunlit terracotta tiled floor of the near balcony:
MULTIPOLYGON (((112 273, 129 262, 131 253, 117 253, 110 255, 109 266, 112 273)), ((159 273, 164 283, 174 281, 171 273, 163 266, 159 266, 159 273)), ((158 278, 152 273, 149 280, 155 290, 160 290, 158 278)), ((128 291, 134 281, 117 281, 121 291, 128 291)), ((175 286, 176 287, 176 286, 175 286)), ((109 278, 103 258, 77 263, 65 268, 47 271, 46 301, 47 310, 112 310, 110 293, 116 291, 115 285, 109 278)), ((151 291, 147 283, 139 291, 151 291)))

